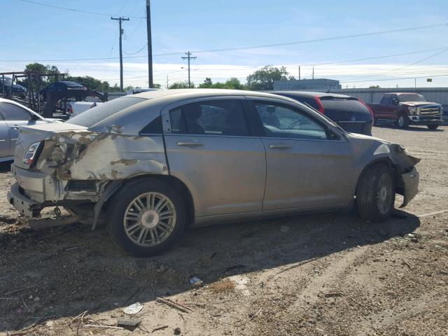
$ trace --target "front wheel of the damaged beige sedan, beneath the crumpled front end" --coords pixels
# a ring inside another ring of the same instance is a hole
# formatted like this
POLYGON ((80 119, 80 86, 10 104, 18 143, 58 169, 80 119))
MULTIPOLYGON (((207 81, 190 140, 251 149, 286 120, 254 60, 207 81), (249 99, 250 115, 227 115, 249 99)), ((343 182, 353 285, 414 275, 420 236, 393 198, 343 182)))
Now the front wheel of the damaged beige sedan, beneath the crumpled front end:
POLYGON ((367 168, 356 190, 356 206, 361 218, 381 223, 391 216, 395 202, 393 170, 378 164, 367 168))

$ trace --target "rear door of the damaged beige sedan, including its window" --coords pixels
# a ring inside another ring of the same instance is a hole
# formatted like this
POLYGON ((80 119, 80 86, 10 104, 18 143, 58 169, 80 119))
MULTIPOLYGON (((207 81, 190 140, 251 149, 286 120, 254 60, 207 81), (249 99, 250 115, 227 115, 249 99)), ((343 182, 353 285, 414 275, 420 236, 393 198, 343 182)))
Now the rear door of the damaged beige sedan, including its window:
POLYGON ((244 97, 189 99, 162 111, 169 172, 195 200, 195 216, 261 211, 265 148, 244 97))

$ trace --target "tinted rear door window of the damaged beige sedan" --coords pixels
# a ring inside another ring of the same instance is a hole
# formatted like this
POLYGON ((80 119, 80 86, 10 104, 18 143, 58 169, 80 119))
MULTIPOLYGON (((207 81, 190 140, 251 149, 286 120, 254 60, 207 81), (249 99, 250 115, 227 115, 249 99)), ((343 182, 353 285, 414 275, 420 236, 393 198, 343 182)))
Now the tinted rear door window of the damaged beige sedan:
POLYGON ((238 100, 214 100, 169 111, 174 134, 248 136, 244 109, 238 100))

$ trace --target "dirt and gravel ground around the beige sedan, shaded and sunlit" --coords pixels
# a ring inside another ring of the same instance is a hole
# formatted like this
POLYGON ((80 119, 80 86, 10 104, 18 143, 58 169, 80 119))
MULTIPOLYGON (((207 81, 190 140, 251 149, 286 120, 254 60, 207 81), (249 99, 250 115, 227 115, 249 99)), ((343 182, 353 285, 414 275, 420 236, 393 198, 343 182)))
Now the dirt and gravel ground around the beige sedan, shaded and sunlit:
POLYGON ((146 259, 104 228, 27 228, 3 167, 0 335, 447 335, 448 127, 373 134, 422 158, 419 195, 386 223, 331 213, 201 228, 146 259), (113 328, 131 317, 139 328, 113 328))

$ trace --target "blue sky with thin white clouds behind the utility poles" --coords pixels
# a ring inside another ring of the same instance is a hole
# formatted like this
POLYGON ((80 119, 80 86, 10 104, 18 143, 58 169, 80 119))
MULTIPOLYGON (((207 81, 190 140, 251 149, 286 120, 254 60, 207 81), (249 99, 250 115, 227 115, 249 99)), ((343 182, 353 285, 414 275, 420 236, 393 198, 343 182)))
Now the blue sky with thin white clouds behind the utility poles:
MULTIPOLYGON (((20 71, 28 60, 43 60, 41 63, 54 64, 72 75, 119 83, 118 58, 66 60, 118 57, 118 22, 111 20, 110 14, 131 17, 123 23, 125 52, 137 52, 146 43, 145 0, 32 1, 104 15, 0 0, 0 71, 20 71)), ((166 85, 167 76, 169 83, 186 80, 186 69, 181 69, 186 62, 181 56, 187 50, 197 51, 191 66, 195 83, 206 76, 214 81, 232 76, 244 81, 248 73, 266 64, 287 66, 295 77, 300 64, 302 78, 310 78, 312 64, 316 64, 315 78, 339 79, 343 87, 413 87, 414 77, 418 86, 448 85, 448 25, 270 48, 203 52, 440 24, 448 22, 448 1, 152 0, 151 11, 155 83, 162 85, 166 85), (160 55, 167 53, 175 55, 160 55), (335 63, 402 53, 409 55, 335 63), (411 79, 400 79, 407 77, 411 79), (426 77, 433 82, 427 83, 426 77)), ((146 48, 124 59, 125 86, 147 85, 144 55, 146 48)))

